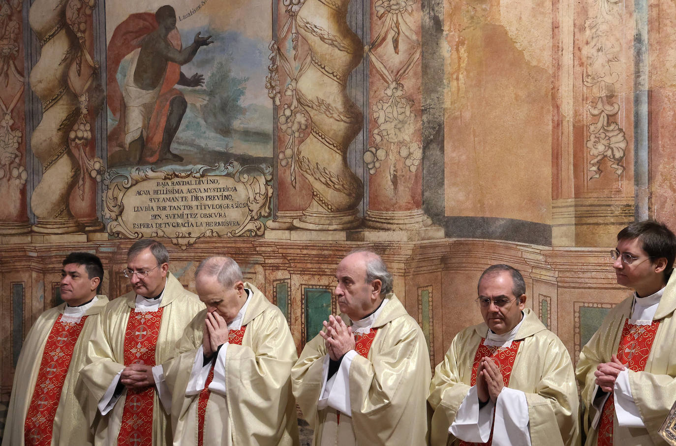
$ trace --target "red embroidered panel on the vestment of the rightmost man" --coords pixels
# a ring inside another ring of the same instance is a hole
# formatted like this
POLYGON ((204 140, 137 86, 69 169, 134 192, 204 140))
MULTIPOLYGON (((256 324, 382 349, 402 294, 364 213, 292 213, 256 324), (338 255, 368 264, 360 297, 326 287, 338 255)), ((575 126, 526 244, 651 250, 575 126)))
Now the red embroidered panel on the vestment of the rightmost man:
MULTIPOLYGON (((625 320, 625 326, 622 329, 622 339, 617 348, 617 359, 622 364, 627 364, 629 370, 642 372, 646 368, 650 349, 655 340, 655 334, 660 321, 653 322, 650 325, 629 324, 629 319, 625 320)), ((601 420, 598 425, 598 446, 612 446, 612 423, 615 418, 614 394, 610 393, 606 403, 603 405, 601 420)))

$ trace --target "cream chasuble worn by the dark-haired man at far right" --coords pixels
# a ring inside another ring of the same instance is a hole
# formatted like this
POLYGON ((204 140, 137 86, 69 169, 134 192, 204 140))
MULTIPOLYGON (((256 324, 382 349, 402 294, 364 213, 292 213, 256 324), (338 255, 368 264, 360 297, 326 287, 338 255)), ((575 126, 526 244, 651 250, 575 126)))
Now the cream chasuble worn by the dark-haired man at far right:
MULTIPOLYGON (((617 446, 650 446, 667 445, 660 437, 658 430, 665 421, 671 405, 676 401, 676 349, 673 344, 676 340, 676 274, 671 274, 667 287, 663 289, 662 298, 652 321, 660 321, 655 339, 648 355, 648 361, 642 372, 627 370, 629 390, 636 414, 645 427, 619 426, 617 415, 613 422, 613 440, 617 446)), ((647 299, 647 298, 644 298, 647 299)), ((610 309, 600 328, 582 348, 580 359, 577 362, 575 374, 582 388, 583 422, 587 432, 586 445, 597 444, 598 424, 594 425, 598 410, 594 407, 596 392, 596 376, 594 372, 601 362, 610 362, 611 355, 617 353, 622 330, 627 318, 633 318, 632 304, 634 297, 628 297, 617 306, 610 309)), ((624 374, 625 372, 622 372, 624 374)), ((618 379, 619 381, 620 379, 618 379)), ((616 382, 616 410, 617 403, 616 382)))

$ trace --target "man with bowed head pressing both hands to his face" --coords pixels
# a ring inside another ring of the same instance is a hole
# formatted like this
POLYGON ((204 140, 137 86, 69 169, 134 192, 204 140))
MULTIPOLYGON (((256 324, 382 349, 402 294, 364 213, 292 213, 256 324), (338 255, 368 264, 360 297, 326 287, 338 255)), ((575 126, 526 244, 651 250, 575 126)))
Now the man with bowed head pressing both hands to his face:
POLYGON ((203 260, 195 287, 207 307, 180 340, 185 353, 164 364, 174 444, 297 445, 286 318, 230 257, 203 260))

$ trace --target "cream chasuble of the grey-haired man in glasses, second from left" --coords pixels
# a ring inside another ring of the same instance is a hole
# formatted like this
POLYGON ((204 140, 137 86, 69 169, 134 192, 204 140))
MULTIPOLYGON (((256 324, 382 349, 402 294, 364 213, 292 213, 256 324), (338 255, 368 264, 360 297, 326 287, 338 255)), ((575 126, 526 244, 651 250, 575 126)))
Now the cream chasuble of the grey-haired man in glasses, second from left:
MULTIPOLYGON (((135 293, 127 293, 112 300, 103 309, 98 327, 89 343, 87 366, 80 374, 91 394, 91 401, 95 401, 95 405, 88 408, 87 416, 95 425, 96 445, 117 444, 126 391, 122 391, 120 399, 105 416, 101 415, 97 404, 117 374, 124 369, 124 332, 130 311, 136 308, 136 298, 135 293)), ((160 307, 163 308, 162 322, 155 349, 155 364, 162 364, 176 356, 176 343, 187 324, 204 309, 204 304, 169 273, 160 307)), ((169 414, 162 407, 157 391, 153 397, 152 432, 153 446, 171 443, 169 414)))

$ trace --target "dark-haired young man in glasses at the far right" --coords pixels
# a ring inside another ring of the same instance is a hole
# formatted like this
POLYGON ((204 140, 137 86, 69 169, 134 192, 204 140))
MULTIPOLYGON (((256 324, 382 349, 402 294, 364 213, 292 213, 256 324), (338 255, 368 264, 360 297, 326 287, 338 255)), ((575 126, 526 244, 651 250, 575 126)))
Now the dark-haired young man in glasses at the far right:
POLYGON ((665 445, 658 430, 676 401, 676 237, 646 220, 617 234, 617 283, 631 297, 610 309, 577 363, 586 445, 665 445))

